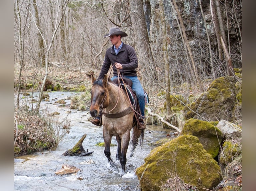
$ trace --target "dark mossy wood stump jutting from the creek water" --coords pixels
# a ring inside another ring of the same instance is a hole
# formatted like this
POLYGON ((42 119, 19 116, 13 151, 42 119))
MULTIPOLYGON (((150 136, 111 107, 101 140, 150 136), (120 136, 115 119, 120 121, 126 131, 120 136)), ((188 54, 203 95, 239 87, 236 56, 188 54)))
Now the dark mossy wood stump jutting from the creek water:
POLYGON ((87 151, 85 151, 84 147, 83 147, 83 141, 86 137, 86 134, 83 135, 83 137, 77 142, 77 144, 67 150, 65 153, 63 153, 62 155, 65 155, 65 156, 87 156, 87 155, 90 155, 92 154, 94 151, 92 152, 88 152, 88 149, 87 151))

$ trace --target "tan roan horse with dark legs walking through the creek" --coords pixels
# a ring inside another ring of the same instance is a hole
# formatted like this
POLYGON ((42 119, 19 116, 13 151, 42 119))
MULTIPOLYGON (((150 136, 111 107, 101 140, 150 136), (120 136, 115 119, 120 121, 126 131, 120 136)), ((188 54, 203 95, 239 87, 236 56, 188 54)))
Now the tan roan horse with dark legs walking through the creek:
POLYGON ((113 136, 117 140, 116 160, 120 161, 123 172, 125 172, 126 153, 130 141, 130 131, 132 134, 132 151, 130 157, 138 144, 141 136, 141 144, 143 142, 144 130, 138 130, 135 127, 133 117, 134 110, 131 108, 129 97, 125 91, 115 85, 107 75, 102 80, 96 80, 91 75, 93 86, 91 88, 91 106, 90 114, 92 117, 102 115, 103 139, 105 143, 104 154, 110 164, 114 164, 111 153, 110 144, 113 136))

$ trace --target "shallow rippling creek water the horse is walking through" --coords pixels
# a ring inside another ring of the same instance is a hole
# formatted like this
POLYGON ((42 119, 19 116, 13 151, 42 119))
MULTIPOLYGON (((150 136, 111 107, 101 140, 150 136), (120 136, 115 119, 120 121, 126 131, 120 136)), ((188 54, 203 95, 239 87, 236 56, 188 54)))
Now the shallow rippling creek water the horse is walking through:
MULTIPOLYGON (((104 155, 104 147, 96 146, 104 142, 102 127, 95 126, 88 121, 88 111, 71 110, 69 106, 58 106, 56 100, 73 96, 74 92, 50 92, 49 102, 41 102, 41 110, 44 113, 59 112, 54 116, 56 124, 62 119, 70 123, 69 133, 65 136, 54 151, 42 151, 31 155, 23 155, 14 158, 14 187, 17 191, 121 191, 140 190, 139 180, 135 174, 137 167, 144 163, 144 158, 153 148, 151 143, 165 138, 167 133, 173 134, 170 129, 160 126, 147 125, 145 129, 144 143, 138 144, 134 156, 130 157, 131 143, 127 152, 126 173, 122 175, 121 165, 116 161, 117 146, 112 146, 111 157, 115 162, 110 166, 104 155), (83 147, 88 152, 94 151, 88 156, 64 156, 65 151, 72 148, 84 134, 87 134, 83 147), (62 164, 73 165, 81 171, 74 174, 56 175, 54 172, 61 169, 62 164)), ((37 93, 34 93, 34 97, 37 93)), ((70 99, 65 100, 70 104, 70 99)), ((115 137, 112 143, 117 144, 115 137)))

